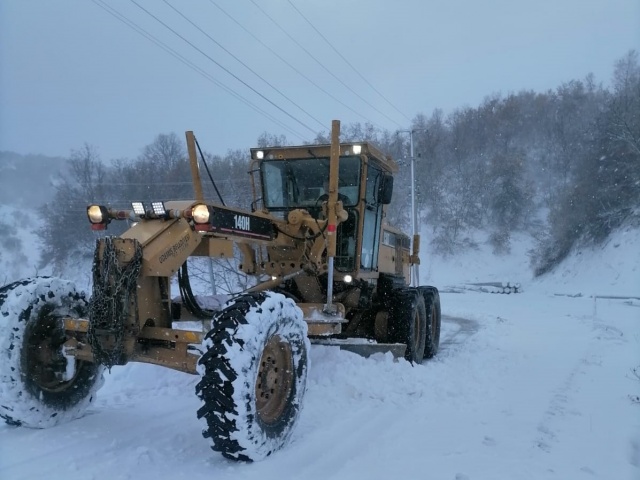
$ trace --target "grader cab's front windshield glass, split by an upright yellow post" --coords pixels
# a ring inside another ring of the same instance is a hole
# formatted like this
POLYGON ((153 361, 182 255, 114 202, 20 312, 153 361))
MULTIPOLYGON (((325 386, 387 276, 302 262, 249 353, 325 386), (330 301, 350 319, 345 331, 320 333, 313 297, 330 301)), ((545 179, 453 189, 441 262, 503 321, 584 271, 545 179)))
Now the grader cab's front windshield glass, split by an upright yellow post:
MULTIPOLYGON (((329 158, 265 160, 260 165, 264 204, 268 209, 320 205, 328 192, 329 158)), ((338 194, 345 207, 358 203, 360 157, 340 157, 338 194)))

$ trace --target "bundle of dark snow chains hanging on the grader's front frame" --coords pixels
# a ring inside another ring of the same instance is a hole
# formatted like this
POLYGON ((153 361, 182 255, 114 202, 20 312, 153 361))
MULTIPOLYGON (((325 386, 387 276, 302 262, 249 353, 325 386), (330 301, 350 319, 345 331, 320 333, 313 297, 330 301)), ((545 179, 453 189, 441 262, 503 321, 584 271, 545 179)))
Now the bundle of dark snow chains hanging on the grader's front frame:
POLYGON ((102 262, 99 242, 93 260, 93 294, 89 306, 89 331, 87 337, 95 362, 109 370, 121 361, 125 320, 129 315, 130 297, 135 297, 136 284, 142 265, 142 248, 135 243, 135 254, 124 267, 118 262, 118 252, 113 237, 105 237, 102 262), (113 346, 107 347, 102 339, 113 336, 113 346))

